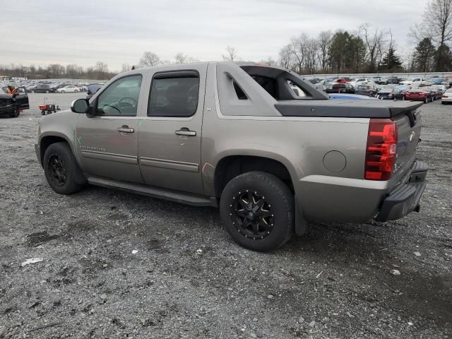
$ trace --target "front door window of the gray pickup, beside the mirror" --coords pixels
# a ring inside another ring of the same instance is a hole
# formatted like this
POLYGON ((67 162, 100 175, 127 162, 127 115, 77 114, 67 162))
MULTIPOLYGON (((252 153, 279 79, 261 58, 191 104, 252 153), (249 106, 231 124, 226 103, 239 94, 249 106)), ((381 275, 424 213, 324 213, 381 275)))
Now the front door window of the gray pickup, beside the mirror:
POLYGON ((97 99, 97 114, 136 116, 141 78, 141 75, 126 76, 109 85, 97 99))

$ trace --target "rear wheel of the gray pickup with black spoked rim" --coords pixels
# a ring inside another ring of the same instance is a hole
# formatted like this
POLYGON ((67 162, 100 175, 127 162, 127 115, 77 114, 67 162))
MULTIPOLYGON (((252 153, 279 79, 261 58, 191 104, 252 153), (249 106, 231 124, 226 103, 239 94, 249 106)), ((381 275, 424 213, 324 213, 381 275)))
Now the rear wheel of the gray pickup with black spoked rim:
POLYGON ((283 246, 294 234, 294 196, 273 174, 247 172, 222 191, 220 214, 232 239, 254 251, 283 246))

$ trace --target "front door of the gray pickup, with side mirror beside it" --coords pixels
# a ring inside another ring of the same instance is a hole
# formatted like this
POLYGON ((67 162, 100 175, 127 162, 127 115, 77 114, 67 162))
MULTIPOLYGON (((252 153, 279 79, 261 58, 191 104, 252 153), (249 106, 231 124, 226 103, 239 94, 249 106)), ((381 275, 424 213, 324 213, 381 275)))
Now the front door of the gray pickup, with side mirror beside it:
POLYGON ((97 96, 94 117, 76 125, 78 160, 83 172, 127 182, 143 182, 138 167, 138 117, 141 74, 124 76, 97 96))

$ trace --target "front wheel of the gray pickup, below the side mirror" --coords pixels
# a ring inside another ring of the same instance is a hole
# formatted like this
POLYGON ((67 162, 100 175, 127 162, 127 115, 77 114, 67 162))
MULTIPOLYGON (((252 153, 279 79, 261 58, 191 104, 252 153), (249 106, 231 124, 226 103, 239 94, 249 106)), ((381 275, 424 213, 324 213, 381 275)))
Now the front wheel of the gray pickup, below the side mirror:
POLYGON ((44 174, 52 189, 59 194, 73 194, 83 188, 81 171, 67 143, 52 143, 42 160, 44 174))

